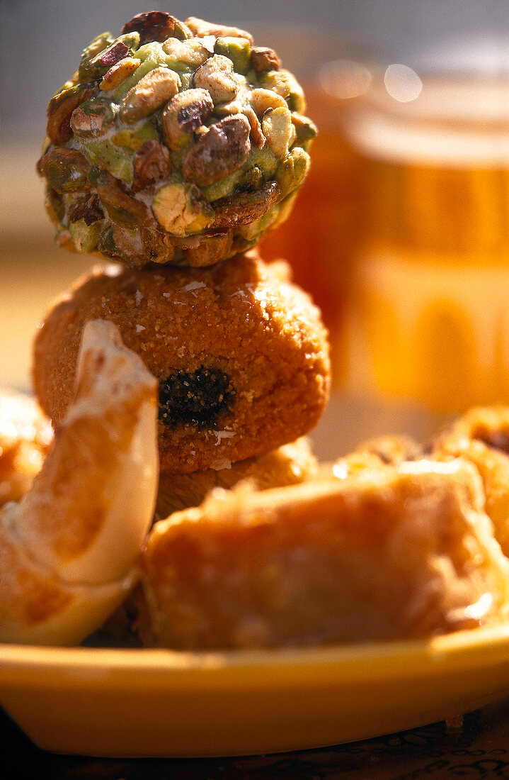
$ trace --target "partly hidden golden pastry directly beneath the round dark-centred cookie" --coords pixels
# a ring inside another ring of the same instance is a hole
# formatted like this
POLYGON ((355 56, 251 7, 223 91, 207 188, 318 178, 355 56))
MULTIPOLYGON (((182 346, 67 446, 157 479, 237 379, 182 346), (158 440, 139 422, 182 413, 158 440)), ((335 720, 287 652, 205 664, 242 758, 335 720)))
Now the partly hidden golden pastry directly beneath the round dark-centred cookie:
POLYGON ((226 469, 161 474, 156 515, 164 518, 172 512, 198 506, 213 488, 233 488, 240 480, 252 480, 258 490, 267 490, 304 482, 317 473, 318 461, 309 441, 302 437, 265 455, 237 460, 226 469))

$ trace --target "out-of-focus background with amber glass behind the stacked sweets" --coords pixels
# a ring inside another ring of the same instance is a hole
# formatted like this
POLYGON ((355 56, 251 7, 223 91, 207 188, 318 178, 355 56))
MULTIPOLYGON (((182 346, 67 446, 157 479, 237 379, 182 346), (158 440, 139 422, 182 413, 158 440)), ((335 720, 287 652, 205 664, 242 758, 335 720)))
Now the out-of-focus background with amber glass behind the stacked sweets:
POLYGON ((304 84, 311 175, 262 250, 330 328, 322 426, 422 436, 509 402, 507 0, 0 0, 0 385, 30 388, 37 322, 97 261, 53 242, 47 102, 93 37, 155 7, 251 30, 304 84))

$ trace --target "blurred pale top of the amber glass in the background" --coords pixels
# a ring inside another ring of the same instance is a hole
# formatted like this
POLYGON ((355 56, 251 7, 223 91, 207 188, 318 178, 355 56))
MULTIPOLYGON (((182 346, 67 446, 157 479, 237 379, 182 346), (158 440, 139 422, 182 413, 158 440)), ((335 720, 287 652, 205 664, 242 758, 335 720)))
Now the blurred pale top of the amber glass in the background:
POLYGON ((412 60, 340 58, 319 89, 346 114, 363 154, 423 163, 499 166, 509 161, 509 43, 469 38, 412 60))

